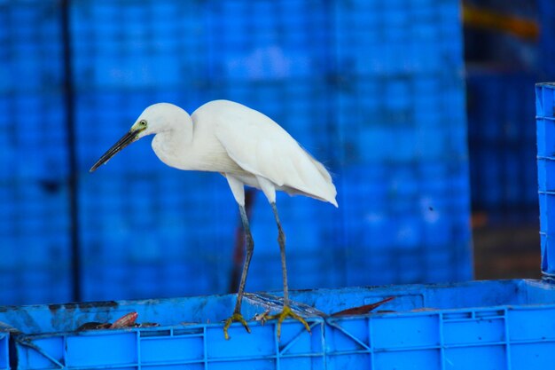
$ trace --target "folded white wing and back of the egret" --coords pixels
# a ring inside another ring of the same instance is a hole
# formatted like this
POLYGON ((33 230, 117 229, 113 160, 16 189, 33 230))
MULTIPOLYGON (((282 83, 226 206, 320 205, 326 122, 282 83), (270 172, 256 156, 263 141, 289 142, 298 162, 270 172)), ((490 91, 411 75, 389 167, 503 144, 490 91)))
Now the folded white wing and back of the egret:
POLYGON ((246 173, 265 177, 278 190, 337 207, 337 192, 324 165, 265 114, 229 100, 214 100, 200 106, 192 121, 195 135, 214 136, 246 173))

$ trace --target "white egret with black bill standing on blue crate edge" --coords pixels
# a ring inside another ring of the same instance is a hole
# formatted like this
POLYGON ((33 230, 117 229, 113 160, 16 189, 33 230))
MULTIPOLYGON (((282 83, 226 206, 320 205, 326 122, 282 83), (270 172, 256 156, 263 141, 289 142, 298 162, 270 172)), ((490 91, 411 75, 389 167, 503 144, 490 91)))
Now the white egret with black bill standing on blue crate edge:
POLYGON ((147 135, 154 153, 170 167, 221 173, 238 202, 246 235, 246 257, 239 282, 237 303, 223 327, 226 339, 233 321, 250 329, 241 315, 246 275, 254 252, 254 240, 245 211, 244 186, 261 189, 277 223, 283 285, 284 309, 268 319, 278 319, 277 336, 286 317, 307 322, 290 309, 285 267, 285 234, 276 208, 276 190, 301 194, 338 207, 332 177, 324 166, 307 153, 294 138, 268 116, 229 100, 214 100, 200 106, 192 115, 179 106, 158 103, 148 106, 127 134, 90 168, 90 172, 109 161, 130 143, 147 135))

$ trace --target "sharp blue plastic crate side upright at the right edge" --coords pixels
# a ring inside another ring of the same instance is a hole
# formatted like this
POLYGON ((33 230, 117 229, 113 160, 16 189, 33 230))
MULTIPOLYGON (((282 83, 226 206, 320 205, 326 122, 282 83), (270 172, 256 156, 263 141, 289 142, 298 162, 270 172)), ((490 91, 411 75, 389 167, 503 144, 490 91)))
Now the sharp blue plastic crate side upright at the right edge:
POLYGON ((535 85, 543 279, 555 282, 555 83, 535 85))

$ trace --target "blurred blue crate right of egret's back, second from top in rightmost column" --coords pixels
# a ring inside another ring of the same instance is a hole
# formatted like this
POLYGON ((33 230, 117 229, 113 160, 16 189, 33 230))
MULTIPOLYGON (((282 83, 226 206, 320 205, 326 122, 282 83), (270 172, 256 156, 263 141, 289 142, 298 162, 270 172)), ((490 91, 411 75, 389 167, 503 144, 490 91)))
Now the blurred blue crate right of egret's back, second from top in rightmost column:
POLYGON ((345 161, 465 161, 464 87, 456 80, 414 74, 343 83, 339 130, 345 161))

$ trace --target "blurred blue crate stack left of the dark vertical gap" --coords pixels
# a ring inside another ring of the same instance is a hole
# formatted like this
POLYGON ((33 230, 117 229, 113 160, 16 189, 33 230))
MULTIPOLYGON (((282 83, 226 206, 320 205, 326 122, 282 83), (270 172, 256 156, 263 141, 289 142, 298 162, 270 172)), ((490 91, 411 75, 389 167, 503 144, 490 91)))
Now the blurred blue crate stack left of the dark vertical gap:
POLYGON ((0 303, 67 301, 69 170, 59 2, 0 6, 0 303))

